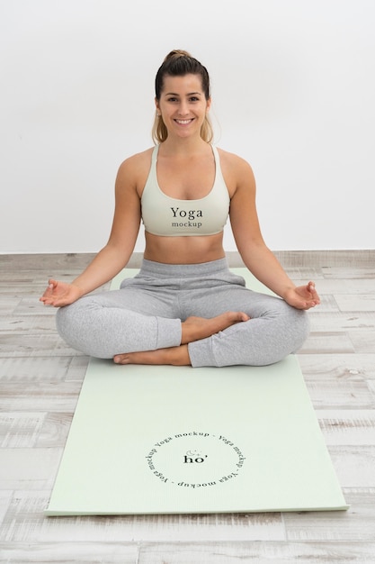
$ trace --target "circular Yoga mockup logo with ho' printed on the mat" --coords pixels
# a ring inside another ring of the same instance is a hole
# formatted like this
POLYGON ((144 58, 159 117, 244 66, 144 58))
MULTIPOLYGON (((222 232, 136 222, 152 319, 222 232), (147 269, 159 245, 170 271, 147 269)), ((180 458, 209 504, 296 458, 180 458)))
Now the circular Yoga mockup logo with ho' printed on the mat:
POLYGON ((246 456, 230 437, 187 431, 156 441, 146 460, 150 472, 165 484, 201 489, 236 480, 246 456))

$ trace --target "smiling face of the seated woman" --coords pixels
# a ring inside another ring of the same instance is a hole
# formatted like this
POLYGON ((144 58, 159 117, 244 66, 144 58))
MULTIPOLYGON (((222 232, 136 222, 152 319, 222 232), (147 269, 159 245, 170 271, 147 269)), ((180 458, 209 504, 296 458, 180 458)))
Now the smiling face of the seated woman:
POLYGON ((164 77, 160 100, 156 100, 156 111, 161 114, 168 135, 189 137, 201 135, 201 126, 210 109, 206 100, 200 75, 164 77))

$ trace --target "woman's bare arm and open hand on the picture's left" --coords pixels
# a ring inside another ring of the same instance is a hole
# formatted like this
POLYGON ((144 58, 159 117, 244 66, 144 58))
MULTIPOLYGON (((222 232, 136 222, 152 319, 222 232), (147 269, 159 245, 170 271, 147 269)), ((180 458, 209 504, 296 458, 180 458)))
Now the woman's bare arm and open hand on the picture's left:
POLYGON ((40 298, 45 305, 72 304, 112 279, 129 261, 137 241, 140 224, 140 200, 134 158, 119 168, 115 186, 115 211, 109 241, 85 271, 71 283, 50 279, 40 298))

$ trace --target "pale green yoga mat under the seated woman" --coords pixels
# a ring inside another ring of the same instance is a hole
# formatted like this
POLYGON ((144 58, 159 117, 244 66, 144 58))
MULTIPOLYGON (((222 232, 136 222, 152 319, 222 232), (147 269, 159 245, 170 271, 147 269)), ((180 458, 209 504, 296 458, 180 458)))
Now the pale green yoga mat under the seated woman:
MULTIPOLYGON (((246 277, 246 284, 263 290, 246 277)), ((123 271, 113 281, 117 287, 123 271)), ((48 515, 347 509, 294 355, 262 368, 91 359, 48 515)))

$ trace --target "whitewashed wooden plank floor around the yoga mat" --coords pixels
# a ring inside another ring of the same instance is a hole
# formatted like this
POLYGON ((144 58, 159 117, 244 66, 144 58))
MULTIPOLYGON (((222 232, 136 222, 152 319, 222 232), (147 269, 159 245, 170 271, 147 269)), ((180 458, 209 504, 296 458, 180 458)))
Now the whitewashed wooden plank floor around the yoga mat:
POLYGON ((87 358, 38 298, 90 258, 0 256, 0 562, 375 563, 374 252, 280 255, 322 296, 299 361, 348 512, 46 518, 87 358))

